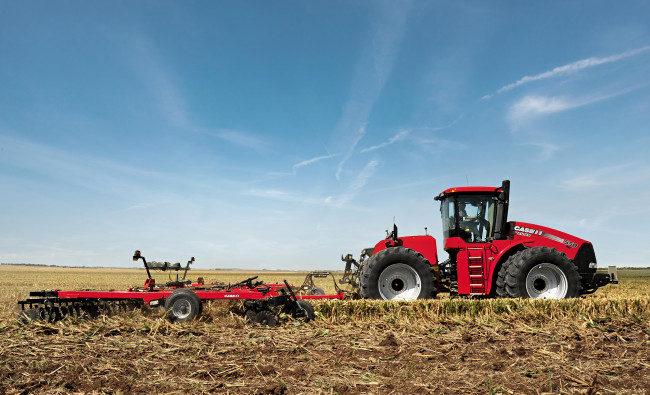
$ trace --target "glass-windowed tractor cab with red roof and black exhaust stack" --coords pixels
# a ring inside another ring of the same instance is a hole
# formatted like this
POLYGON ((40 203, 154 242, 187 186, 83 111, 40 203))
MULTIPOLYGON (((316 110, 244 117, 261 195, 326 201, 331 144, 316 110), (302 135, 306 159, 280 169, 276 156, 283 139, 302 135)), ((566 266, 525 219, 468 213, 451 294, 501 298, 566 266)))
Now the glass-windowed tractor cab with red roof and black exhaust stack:
POLYGON ((450 188, 436 196, 441 202, 445 249, 448 241, 464 244, 505 239, 509 189, 510 181, 505 180, 500 188, 450 188))

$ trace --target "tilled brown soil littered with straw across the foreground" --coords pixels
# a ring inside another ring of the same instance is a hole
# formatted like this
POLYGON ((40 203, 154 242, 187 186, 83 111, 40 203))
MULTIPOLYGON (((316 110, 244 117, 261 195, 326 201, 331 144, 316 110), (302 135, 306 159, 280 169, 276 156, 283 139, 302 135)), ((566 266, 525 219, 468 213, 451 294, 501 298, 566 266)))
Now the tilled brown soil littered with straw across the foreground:
POLYGON ((250 326, 223 311, 0 326, 0 394, 648 393, 648 316, 250 326))

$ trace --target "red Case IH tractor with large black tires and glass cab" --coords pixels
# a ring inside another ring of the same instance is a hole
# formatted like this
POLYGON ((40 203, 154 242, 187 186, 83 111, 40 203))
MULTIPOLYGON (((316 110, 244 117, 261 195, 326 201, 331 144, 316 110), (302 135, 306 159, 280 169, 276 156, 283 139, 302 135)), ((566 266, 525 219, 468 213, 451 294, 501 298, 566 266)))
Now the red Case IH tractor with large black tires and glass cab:
POLYGON ((412 300, 451 295, 562 299, 618 283, 616 268, 596 273, 593 245, 540 225, 508 221, 510 181, 501 187, 450 188, 435 197, 444 249, 436 240, 399 237, 397 226, 374 248, 351 254, 341 283, 370 299, 412 300))

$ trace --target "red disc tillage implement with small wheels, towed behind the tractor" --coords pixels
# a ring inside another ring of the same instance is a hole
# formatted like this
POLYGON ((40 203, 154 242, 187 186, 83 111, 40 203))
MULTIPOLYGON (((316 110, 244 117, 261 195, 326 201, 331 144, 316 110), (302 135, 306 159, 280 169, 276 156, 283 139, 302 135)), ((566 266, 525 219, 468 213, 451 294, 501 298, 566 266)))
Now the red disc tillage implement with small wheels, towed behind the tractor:
POLYGON ((185 266, 183 278, 169 281, 164 285, 156 284, 150 270, 181 270, 180 264, 147 263, 146 259, 136 251, 133 260, 142 259, 147 270, 147 280, 142 287, 130 288, 127 291, 118 290, 80 290, 80 291, 36 291, 30 292, 30 298, 19 301, 22 308, 19 319, 23 322, 32 320, 57 321, 65 316, 96 317, 100 314, 125 311, 131 308, 163 306, 167 317, 172 322, 187 321, 199 315, 203 302, 207 300, 243 300, 245 317, 250 322, 274 325, 277 322, 277 312, 287 313, 294 318, 305 321, 314 318, 314 308, 305 299, 344 299, 345 293, 334 283, 336 294, 323 295, 318 288, 308 289, 305 284, 313 284, 311 277, 324 277, 329 273, 310 273, 301 287, 309 294, 296 294, 292 287, 284 284, 265 284, 255 281, 257 276, 235 284, 205 284, 203 278, 196 282, 185 280, 187 271, 194 258, 185 266), (309 280, 309 281, 308 281, 309 280))

